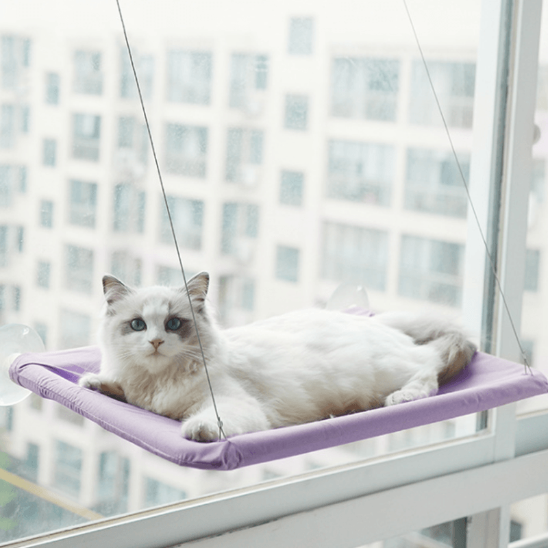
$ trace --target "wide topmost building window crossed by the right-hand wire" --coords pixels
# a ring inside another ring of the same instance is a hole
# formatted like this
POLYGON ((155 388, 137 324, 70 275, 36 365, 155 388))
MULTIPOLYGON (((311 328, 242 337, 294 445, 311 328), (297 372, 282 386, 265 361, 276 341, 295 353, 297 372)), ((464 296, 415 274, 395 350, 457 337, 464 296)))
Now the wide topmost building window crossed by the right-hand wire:
MULTIPOLYGON (((475 64, 433 61, 428 62, 428 71, 447 125, 472 127, 475 64)), ((409 116, 411 123, 442 125, 421 60, 412 64, 409 116)))

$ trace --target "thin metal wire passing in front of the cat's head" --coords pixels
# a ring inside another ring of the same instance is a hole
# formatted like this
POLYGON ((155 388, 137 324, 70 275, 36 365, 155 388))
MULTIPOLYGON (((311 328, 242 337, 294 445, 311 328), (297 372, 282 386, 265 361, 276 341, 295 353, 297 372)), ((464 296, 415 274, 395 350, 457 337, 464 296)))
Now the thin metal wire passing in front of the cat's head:
POLYGON ((185 289, 186 289, 186 295, 188 297, 188 304, 190 305, 190 312, 192 314, 192 323, 194 323, 194 327, 196 329, 196 337, 197 337, 197 340, 198 340, 198 345, 200 347, 200 353, 201 353, 201 358, 202 358, 202 362, 203 362, 203 369, 204 369, 204 371, 206 371, 206 378, 208 379, 208 386, 210 388, 211 399, 212 399, 212 402, 213 402, 213 409, 214 409, 215 416, 216 416, 216 419, 217 419, 217 425, 219 426, 219 438, 223 437, 223 438, 226 439, 227 436, 225 435, 225 431, 223 430, 223 421, 221 421, 221 416, 219 416, 219 410, 217 410, 217 404, 216 404, 216 401, 215 401, 215 395, 213 393, 213 387, 212 387, 212 384, 211 384, 210 373, 208 371, 208 364, 207 364, 207 360, 206 360, 206 355, 203 352, 203 345, 201 343, 201 338, 200 338, 200 334, 199 334, 199 331, 198 331, 198 325, 197 325, 197 321, 196 321, 196 315, 195 315, 195 312, 194 312, 194 306, 192 306, 192 299, 190 298, 190 293, 188 292, 188 284, 186 282, 186 274, 185 274, 185 271, 184 271, 183 260, 181 258, 181 251, 179 251, 179 245, 177 243, 177 236, 175 235, 175 227, 173 226, 173 219, 171 218, 171 211, 169 210, 169 203, 168 203, 168 199, 167 199, 167 196, 166 196, 166 190, 164 188, 164 179, 162 179, 162 172, 160 171, 160 163, 158 162, 158 155, 156 155, 156 149, 154 147, 154 140, 152 138, 151 127, 150 127, 150 124, 149 124, 149 118, 147 116, 147 110, 145 108, 145 101, 142 99, 141 88, 140 88, 140 85, 139 85, 137 70, 135 68, 134 58, 133 58, 133 54, 132 54, 132 48, 129 45, 129 38, 127 38, 127 32, 126 32, 126 29, 125 29, 124 18, 123 18, 123 15, 122 15, 122 9, 120 7, 120 1, 119 0, 116 0, 116 5, 118 6, 118 13, 120 15, 120 22, 122 24, 122 29, 123 29, 124 39, 125 39, 125 45, 127 47, 127 53, 129 55, 129 62, 131 62, 132 72, 133 72, 133 75, 134 75, 135 84, 137 86, 137 92, 138 92, 139 101, 140 101, 140 105, 141 105, 142 115, 145 118, 145 125, 147 126, 147 133, 149 134, 149 142, 150 142, 150 146, 151 146, 151 150, 152 150, 152 155, 153 155, 153 158, 154 158, 154 164, 156 166, 156 172, 158 173, 158 180, 160 181, 160 188, 162 188, 162 196, 164 197, 164 204, 166 206, 166 212, 167 212, 167 216, 168 216, 168 219, 169 219, 169 226, 171 227, 171 235, 173 236, 173 242, 175 243, 175 249, 177 251, 177 258, 179 259, 179 266, 181 268, 181 273, 183 275, 183 281, 184 281, 184 286, 185 286, 185 289))

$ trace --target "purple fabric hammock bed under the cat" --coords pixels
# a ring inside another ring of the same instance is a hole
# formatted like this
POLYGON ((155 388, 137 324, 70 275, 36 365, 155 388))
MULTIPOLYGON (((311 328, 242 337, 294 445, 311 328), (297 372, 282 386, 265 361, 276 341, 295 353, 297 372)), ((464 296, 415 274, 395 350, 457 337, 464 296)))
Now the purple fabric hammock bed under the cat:
MULTIPOLYGON (((182 466, 232 470, 240 466, 325 449, 406 428, 484 411, 548 392, 546 377, 523 365, 477 352, 437 395, 334 419, 234 436, 214 443, 182 438, 177 421, 77 385, 99 371, 97 347, 27 353, 10 368, 12 379, 53 399, 151 453, 182 466)), ((205 380, 204 380, 205 382, 205 380)), ((223 410, 219 410, 221 419, 223 410)))

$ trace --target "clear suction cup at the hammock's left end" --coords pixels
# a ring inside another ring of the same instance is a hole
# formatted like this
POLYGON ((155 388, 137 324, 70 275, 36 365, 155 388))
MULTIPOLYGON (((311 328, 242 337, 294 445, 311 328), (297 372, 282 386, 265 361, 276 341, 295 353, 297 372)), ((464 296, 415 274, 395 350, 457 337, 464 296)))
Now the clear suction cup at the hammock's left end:
POLYGON ((25 352, 44 350, 44 343, 34 329, 20 323, 0 327, 0 406, 13 406, 30 394, 30 390, 10 379, 13 360, 25 352))

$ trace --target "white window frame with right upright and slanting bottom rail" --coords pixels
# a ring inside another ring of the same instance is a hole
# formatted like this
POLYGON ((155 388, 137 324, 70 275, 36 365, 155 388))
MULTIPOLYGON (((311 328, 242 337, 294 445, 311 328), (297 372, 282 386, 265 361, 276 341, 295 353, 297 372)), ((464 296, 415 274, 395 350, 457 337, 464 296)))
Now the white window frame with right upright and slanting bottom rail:
MULTIPOLYGON (((498 272, 517 329, 528 193, 519 181, 531 167, 541 7, 542 0, 483 0, 477 63, 483 75, 477 79, 475 99, 472 199, 488 237, 491 190, 503 181, 498 272), (512 51, 506 49, 510 21, 515 25, 512 51), (499 85, 507 72, 508 101, 499 85), (501 179, 497 166, 502 158, 501 179)), ((493 282, 473 219, 469 236, 464 310, 469 327, 479 332, 486 324, 484 310, 492 303, 484 295, 493 292, 493 282)), ((504 310, 493 324, 493 353, 519 360, 504 310)), ((426 449, 116 516, 9 546, 353 548, 469 516, 468 548, 505 547, 510 503, 548 492, 548 412, 516 418, 511 403, 490 412, 488 424, 473 436, 426 449)), ((514 548, 547 545, 548 536, 519 541, 514 548)))

